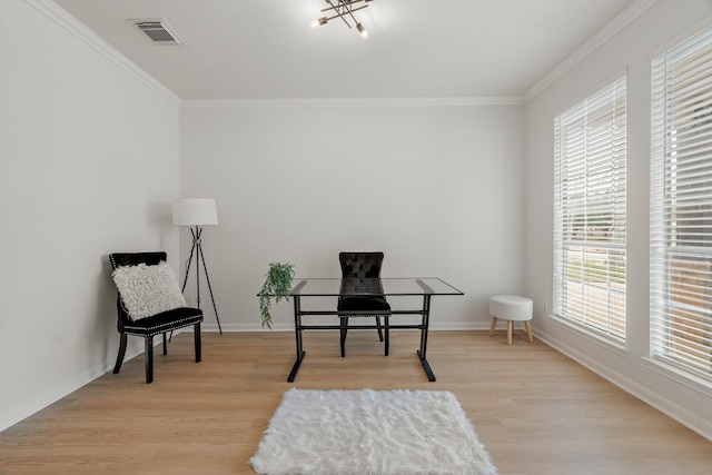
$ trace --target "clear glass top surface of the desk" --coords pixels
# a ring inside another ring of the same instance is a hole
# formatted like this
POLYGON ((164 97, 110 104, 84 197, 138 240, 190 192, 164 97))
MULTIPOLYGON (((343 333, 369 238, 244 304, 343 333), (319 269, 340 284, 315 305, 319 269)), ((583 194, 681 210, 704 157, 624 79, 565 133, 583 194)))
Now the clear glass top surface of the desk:
POLYGON ((437 277, 402 278, 295 278, 290 296, 366 296, 366 295, 463 295, 463 293, 437 277), (349 284, 343 286, 342 284, 349 284), (344 293, 344 288, 348 288, 344 293))

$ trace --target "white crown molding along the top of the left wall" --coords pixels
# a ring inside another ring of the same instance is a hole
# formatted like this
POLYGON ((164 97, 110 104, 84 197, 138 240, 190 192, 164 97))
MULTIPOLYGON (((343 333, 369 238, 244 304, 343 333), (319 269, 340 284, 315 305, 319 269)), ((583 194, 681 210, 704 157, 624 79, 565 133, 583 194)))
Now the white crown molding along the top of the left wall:
POLYGON ((134 61, 119 52, 116 48, 99 38, 97 33, 87 28, 71 14, 51 0, 24 0, 28 4, 49 17, 67 31, 89 44, 101 56, 117 65, 119 68, 134 76, 149 89, 168 100, 174 106, 180 106, 180 98, 166 86, 156 80, 152 76, 139 68, 134 61))

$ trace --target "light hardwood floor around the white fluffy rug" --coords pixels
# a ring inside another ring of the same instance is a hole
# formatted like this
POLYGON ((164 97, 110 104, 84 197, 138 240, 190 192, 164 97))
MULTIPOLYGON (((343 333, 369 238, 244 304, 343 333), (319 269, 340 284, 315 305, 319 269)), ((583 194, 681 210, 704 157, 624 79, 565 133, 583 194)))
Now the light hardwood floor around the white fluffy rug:
MULTIPOLYGON (((118 336, 117 336, 118 338, 118 336)), ((0 474, 251 474, 249 458, 285 390, 451 390, 502 475, 712 474, 712 442, 516 331, 431 331, 429 383, 418 335, 393 331, 390 356, 375 331, 305 334, 294 384, 291 333, 204 335, 192 360, 184 333, 156 348, 155 382, 142 355, 0 433, 0 474)))

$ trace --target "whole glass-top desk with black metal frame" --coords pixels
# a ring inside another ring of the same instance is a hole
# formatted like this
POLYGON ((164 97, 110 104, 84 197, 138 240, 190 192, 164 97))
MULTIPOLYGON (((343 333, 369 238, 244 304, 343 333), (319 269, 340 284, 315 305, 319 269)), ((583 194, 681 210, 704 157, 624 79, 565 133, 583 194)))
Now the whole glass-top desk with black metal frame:
POLYGON ((435 380, 435 374, 427 363, 427 331, 431 320, 431 298, 434 295, 464 295, 461 290, 436 277, 408 277, 408 278, 295 278, 295 286, 289 293, 289 297, 294 299, 294 323, 295 338, 297 346, 297 358, 291 367, 291 372, 287 377, 289 383, 294 382, 299 372, 299 366, 306 356, 301 334, 309 329, 367 329, 377 328, 376 325, 306 325, 304 317, 316 315, 334 315, 334 316, 355 316, 363 313, 358 311, 337 311, 337 310, 305 310, 301 308, 301 299, 305 297, 356 297, 356 296, 403 296, 403 297, 422 297, 422 306, 416 309, 390 309, 389 311, 377 311, 378 315, 385 317, 385 347, 386 356, 388 356, 388 331, 390 329, 419 329, 421 330, 421 348, 416 352, 423 369, 431 382, 435 380), (419 315, 421 321, 417 324, 392 324, 388 317, 393 315, 419 315))

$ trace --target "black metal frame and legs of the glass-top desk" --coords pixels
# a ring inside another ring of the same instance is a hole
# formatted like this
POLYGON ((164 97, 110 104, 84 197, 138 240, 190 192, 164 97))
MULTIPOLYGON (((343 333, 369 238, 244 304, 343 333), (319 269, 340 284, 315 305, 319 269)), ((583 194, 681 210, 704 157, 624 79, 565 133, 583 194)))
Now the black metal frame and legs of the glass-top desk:
MULTIPOLYGON (((384 325, 384 334, 385 334, 385 356, 388 356, 388 343, 389 343, 389 330, 390 329, 419 329, 421 330, 421 347, 416 350, 418 359, 423 365, 423 369, 427 375, 429 382, 435 382, 435 374, 431 368, 429 363, 426 358, 427 353, 427 333, 431 320, 431 297, 433 290, 422 280, 416 280, 418 285, 423 288, 423 308, 418 310, 389 310, 389 311, 379 311, 379 315, 385 317, 384 325), (389 317, 392 315, 421 315, 421 324, 411 324, 411 325, 390 325, 389 317)), ((291 298, 294 298, 294 328, 295 328, 295 343, 296 343, 296 359, 291 367, 291 372, 289 372, 289 376, 287 377, 288 383, 294 383, 297 377, 297 373, 299 372, 299 367, 301 366, 301 362, 306 356, 306 352, 304 349, 304 340, 301 337, 301 333, 304 330, 325 330, 325 329, 373 329, 378 328, 376 325, 305 325, 301 321, 303 316, 310 315, 336 315, 336 316, 354 316, 362 315, 354 311, 328 311, 328 310, 303 310, 301 309, 301 296, 298 295, 298 290, 300 286, 304 286, 306 283, 303 280, 299 283, 291 293, 291 298)), ((339 318, 340 319, 340 318, 339 318)))

